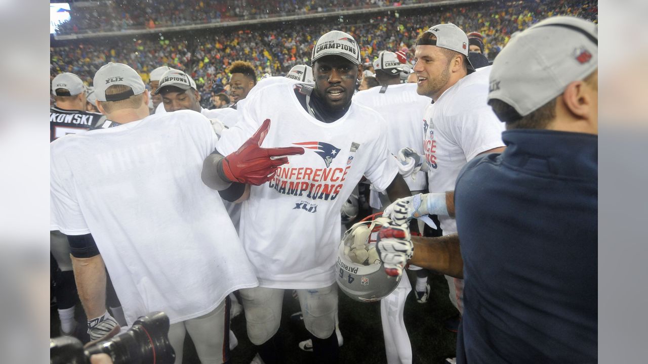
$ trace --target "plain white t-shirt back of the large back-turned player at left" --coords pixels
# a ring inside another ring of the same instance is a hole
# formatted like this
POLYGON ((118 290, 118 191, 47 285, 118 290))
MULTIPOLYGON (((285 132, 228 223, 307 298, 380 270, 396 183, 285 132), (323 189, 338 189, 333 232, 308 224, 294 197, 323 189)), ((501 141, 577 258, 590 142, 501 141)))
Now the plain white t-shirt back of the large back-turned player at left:
POLYGON ((216 144, 191 110, 151 115, 51 144, 51 230, 91 233, 126 321, 209 313, 257 286, 218 192, 202 183, 216 144))

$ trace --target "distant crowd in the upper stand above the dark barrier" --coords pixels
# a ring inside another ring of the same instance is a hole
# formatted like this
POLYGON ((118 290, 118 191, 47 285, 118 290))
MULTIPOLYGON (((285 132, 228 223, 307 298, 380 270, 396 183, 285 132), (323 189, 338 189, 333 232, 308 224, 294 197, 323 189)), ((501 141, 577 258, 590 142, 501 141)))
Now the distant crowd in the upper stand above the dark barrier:
POLYGON ((421 3, 422 0, 333 0, 326 4, 315 0, 227 0, 227 1, 111 1, 108 8, 78 7, 71 11, 71 19, 58 27, 61 34, 79 31, 110 31, 128 28, 156 28, 174 25, 213 23, 243 19, 261 19, 271 16, 309 14, 421 3))

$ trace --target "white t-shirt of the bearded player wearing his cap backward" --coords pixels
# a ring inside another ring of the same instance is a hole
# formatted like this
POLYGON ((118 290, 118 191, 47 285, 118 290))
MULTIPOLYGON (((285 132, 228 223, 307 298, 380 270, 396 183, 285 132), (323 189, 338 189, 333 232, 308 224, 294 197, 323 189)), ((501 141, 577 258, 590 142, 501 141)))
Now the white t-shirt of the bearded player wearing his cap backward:
MULTIPOLYGON (((504 146, 504 124, 487 102, 491 67, 461 78, 439 100, 428 106, 424 117, 423 147, 430 172, 430 192, 454 190, 461 168, 478 154, 504 146)), ((443 234, 457 232, 454 218, 439 216, 443 234)))

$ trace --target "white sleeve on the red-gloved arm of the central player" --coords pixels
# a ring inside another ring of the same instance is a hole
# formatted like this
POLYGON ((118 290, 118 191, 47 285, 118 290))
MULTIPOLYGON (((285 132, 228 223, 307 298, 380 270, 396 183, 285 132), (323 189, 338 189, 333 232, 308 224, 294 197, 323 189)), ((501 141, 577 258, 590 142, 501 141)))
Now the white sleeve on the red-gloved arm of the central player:
MULTIPOLYGON (((238 122, 221 135, 216 143, 216 150, 222 155, 236 152, 240 146, 251 137, 263 120, 257 117, 257 107, 260 106, 259 93, 250 93, 248 97, 237 103, 238 122)), ((272 125, 270 125, 272 128, 272 125)))

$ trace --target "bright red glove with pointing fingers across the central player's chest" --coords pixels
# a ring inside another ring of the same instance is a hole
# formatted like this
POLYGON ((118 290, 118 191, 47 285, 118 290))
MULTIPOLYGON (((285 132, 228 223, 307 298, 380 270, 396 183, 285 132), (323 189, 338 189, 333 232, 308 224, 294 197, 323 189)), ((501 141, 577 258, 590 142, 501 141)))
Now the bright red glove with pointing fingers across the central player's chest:
POLYGON ((223 159, 223 172, 227 179, 259 186, 275 176, 278 166, 288 163, 286 155, 304 154, 304 148, 299 146, 261 148, 268 129, 270 119, 266 119, 259 130, 236 152, 223 159))

